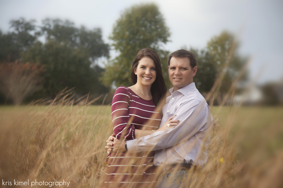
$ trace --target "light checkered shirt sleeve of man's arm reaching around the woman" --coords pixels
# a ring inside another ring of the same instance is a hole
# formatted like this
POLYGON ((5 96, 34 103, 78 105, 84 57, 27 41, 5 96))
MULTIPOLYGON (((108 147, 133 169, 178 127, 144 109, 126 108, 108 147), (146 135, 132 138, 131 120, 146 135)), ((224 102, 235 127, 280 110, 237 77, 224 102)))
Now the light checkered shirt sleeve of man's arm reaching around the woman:
MULTIPOLYGON (((198 100, 189 100, 181 104, 175 114, 164 114, 165 119, 177 115, 174 119, 180 120, 180 124, 174 129, 168 129, 162 132, 155 132, 135 140, 127 141, 128 149, 131 153, 166 149, 190 139, 197 132, 206 130, 209 107, 206 103, 198 100), (129 147, 130 146, 130 147, 129 147)), ((209 116, 209 117, 208 117, 209 116)))

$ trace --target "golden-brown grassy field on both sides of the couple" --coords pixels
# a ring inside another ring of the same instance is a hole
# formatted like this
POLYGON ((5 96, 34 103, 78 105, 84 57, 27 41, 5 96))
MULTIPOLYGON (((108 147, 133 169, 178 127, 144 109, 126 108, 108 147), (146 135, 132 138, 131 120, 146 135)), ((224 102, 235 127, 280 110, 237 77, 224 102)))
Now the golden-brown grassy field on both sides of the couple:
MULTIPOLYGON (((211 111, 208 162, 190 172, 191 187, 283 187, 283 107, 211 111)), ((3 187, 20 187, 14 180, 103 186, 110 106, 1 106, 0 130, 0 179, 13 182, 3 187)))

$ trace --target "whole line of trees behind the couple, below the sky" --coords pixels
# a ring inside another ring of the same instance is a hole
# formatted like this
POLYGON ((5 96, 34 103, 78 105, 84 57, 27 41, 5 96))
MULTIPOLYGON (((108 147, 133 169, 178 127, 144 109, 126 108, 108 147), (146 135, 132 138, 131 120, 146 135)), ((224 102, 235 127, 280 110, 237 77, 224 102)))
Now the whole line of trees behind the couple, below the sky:
MULTIPOLYGON (((158 53, 166 85, 170 87, 167 57, 171 52, 164 49, 170 32, 155 4, 125 9, 109 36, 111 44, 103 41, 100 28, 78 28, 69 20, 46 18, 37 25, 36 20, 19 18, 12 20, 10 25, 11 32, 3 34, 0 31, 1 103, 7 99, 16 104, 35 98, 53 99, 66 87, 74 87, 77 98, 88 93, 91 98, 105 96, 114 87, 132 84, 132 61, 142 48, 151 48, 158 53), (117 52, 116 57, 109 57, 110 47, 117 52), (104 67, 97 64, 101 57, 107 58, 104 67), (29 81, 33 83, 30 86, 33 89, 24 92, 28 87, 23 83, 29 80, 26 79, 29 76, 33 80, 29 81), (19 90, 21 86, 24 89, 19 90), (26 93, 24 97, 23 93, 26 93), (15 95, 22 97, 15 99, 15 95)), ((203 94, 210 91, 216 78, 223 73, 226 60, 230 60, 225 67, 222 84, 217 88, 215 99, 219 98, 218 102, 245 63, 245 58, 237 52, 238 46, 232 55, 229 54, 233 39, 233 34, 223 31, 212 37, 205 48, 187 49, 197 56, 198 73, 194 81, 203 94)), ((242 76, 242 79, 245 78, 246 75, 242 76)))

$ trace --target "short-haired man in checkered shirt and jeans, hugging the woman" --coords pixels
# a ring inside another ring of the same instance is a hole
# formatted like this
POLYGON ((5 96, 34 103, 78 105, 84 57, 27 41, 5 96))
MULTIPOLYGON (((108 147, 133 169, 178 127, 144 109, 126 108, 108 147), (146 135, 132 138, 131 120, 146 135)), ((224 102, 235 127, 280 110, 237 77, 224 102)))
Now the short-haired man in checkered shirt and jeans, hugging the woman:
POLYGON ((130 153, 155 150, 154 165, 162 166, 165 173, 158 187, 178 186, 188 169, 206 163, 213 121, 208 104, 193 82, 197 73, 196 56, 187 50, 177 50, 168 57, 168 64, 173 88, 169 90, 171 96, 166 98, 160 126, 173 115, 180 120, 179 125, 126 142, 109 137, 105 147, 108 152, 116 152, 121 144, 125 148, 120 147, 120 151, 127 149, 130 153))

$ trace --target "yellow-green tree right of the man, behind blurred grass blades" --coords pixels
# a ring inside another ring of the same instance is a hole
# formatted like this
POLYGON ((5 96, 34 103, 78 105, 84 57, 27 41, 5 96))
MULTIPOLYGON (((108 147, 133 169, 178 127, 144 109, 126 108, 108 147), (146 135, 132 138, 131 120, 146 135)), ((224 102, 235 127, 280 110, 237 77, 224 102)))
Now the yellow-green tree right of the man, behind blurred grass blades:
POLYGON ((236 82, 247 79, 247 71, 244 71, 247 58, 238 54, 238 46, 233 34, 227 31, 223 31, 219 36, 214 36, 208 41, 207 50, 217 73, 217 80, 208 93, 211 103, 216 99, 217 104, 224 104, 228 99, 225 95, 232 94, 236 88, 236 82))

